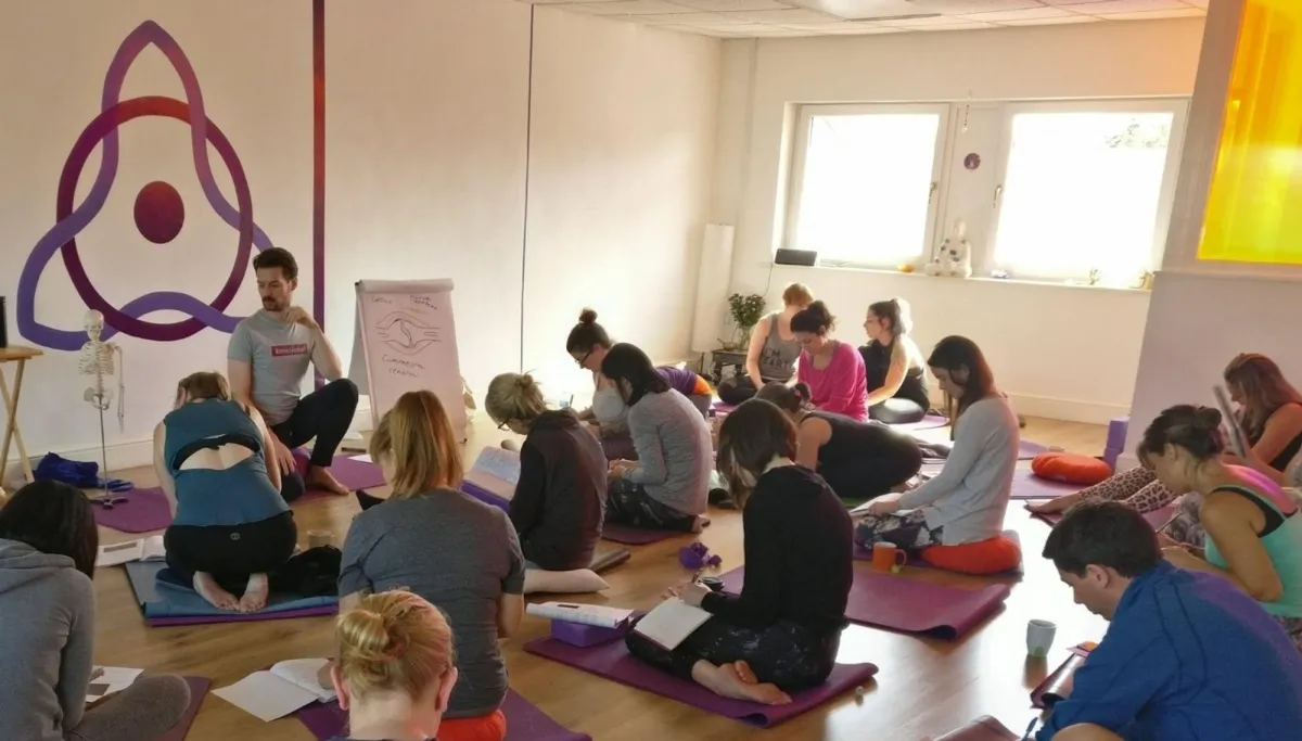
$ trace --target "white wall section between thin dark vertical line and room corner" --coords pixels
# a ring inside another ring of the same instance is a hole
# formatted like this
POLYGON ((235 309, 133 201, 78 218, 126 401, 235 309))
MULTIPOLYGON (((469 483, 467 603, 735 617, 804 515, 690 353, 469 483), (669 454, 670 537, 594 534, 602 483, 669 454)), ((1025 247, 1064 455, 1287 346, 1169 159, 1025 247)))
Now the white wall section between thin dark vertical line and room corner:
POLYGON ((652 358, 687 354, 720 46, 538 9, 523 366, 553 391, 591 387, 565 354, 585 306, 652 358))

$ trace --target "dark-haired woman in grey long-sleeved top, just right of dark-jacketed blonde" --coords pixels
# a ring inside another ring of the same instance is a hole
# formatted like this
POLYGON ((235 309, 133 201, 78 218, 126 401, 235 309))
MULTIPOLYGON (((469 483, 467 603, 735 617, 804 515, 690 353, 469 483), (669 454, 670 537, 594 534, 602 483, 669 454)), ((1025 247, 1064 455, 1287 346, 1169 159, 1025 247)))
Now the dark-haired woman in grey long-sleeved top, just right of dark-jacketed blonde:
POLYGON ((602 375, 629 406, 637 461, 613 461, 605 521, 654 530, 698 531, 704 524, 713 445, 710 425, 687 397, 669 388, 651 358, 620 343, 602 375))

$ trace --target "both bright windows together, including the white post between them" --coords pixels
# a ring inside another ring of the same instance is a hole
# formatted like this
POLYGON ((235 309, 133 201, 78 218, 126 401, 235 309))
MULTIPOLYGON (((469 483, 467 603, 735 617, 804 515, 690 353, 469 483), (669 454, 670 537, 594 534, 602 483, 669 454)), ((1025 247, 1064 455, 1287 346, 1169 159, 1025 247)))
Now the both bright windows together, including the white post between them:
POLYGON ((1167 240, 1187 99, 805 105, 784 246, 921 267, 966 225, 975 276, 1134 285, 1167 240))

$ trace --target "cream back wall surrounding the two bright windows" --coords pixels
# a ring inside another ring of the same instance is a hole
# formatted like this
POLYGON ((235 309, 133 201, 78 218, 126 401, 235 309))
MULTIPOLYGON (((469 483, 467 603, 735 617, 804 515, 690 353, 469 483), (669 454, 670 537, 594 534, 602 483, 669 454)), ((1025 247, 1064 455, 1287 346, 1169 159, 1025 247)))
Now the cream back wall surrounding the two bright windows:
POLYGON ((1023 413, 1091 422, 1124 413, 1147 293, 773 268, 786 184, 784 135, 799 103, 1189 95, 1200 38, 1200 20, 1178 20, 725 42, 720 120, 732 130, 721 137, 749 142, 742 161, 720 147, 715 164, 720 180, 711 216, 737 224, 733 290, 776 297, 799 279, 842 316, 840 336, 849 341, 862 340, 857 327, 867 303, 902 296, 913 303, 923 345, 971 335, 1023 413))

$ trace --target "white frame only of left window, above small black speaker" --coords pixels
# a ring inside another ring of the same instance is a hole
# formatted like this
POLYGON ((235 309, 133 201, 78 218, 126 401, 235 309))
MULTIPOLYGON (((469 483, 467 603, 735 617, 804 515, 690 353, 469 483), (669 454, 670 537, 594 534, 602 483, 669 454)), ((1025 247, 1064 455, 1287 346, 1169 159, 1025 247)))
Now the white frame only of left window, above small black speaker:
MULTIPOLYGON (((924 263, 931 259, 931 254, 936 249, 936 228, 941 221, 944 215, 944 195, 945 195, 945 169, 949 163, 949 148, 952 135, 950 119, 953 117, 953 104, 952 103, 852 103, 852 104, 832 104, 832 103, 810 103, 799 105, 796 113, 796 137, 793 138, 793 151, 792 151, 792 171, 790 171, 790 184, 786 198, 786 224, 783 233, 783 246, 788 249, 807 249, 802 247, 798 240, 799 234, 799 220, 801 220, 801 203, 805 195, 805 165, 809 158, 810 138, 812 135, 812 126, 815 117, 831 117, 831 116, 872 116, 872 115, 907 115, 907 113, 931 113, 937 116, 939 121, 936 125, 936 146, 932 154, 931 163, 931 194, 927 201, 927 223, 923 231, 922 249, 915 260, 924 263)), ((818 250, 814 250, 818 251, 818 250)), ((818 258, 819 267, 849 267, 849 268, 891 268, 898 267, 898 260, 892 264, 891 260, 872 260, 872 259, 845 259, 845 258, 824 258, 823 253, 819 253, 818 258)))

